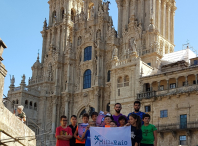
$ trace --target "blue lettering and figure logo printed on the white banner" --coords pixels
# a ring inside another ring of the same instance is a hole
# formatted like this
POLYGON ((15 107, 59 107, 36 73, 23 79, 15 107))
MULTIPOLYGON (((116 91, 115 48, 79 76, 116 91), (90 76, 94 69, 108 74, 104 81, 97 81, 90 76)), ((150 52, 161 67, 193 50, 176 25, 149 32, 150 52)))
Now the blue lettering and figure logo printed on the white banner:
POLYGON ((119 145, 119 146, 125 146, 128 144, 127 141, 118 141, 118 140, 104 140, 101 139, 101 135, 95 135, 95 144, 99 143, 100 146, 109 146, 109 145, 119 145))

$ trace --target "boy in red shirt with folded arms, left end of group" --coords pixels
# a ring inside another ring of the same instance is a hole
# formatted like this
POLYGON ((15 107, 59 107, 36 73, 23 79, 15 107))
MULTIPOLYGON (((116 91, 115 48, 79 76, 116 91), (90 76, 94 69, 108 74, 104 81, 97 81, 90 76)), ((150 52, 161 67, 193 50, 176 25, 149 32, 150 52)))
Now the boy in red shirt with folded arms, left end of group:
POLYGON ((67 127, 67 117, 61 116, 60 118, 61 126, 56 128, 56 146, 70 146, 70 139, 72 138, 72 130, 67 127))

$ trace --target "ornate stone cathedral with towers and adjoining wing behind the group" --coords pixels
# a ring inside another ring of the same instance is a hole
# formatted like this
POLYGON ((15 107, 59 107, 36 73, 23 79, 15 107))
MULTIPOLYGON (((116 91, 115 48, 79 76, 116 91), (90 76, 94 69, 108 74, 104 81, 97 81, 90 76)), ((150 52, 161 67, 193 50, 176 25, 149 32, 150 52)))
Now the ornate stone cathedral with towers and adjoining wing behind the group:
POLYGON ((198 58, 189 44, 174 52, 175 0, 116 2, 117 31, 110 1, 49 0, 42 56, 27 84, 23 75, 15 87, 12 77, 7 108, 24 105, 37 145, 54 146, 61 115, 81 122, 117 102, 127 115, 140 100, 159 146, 198 145, 198 58))

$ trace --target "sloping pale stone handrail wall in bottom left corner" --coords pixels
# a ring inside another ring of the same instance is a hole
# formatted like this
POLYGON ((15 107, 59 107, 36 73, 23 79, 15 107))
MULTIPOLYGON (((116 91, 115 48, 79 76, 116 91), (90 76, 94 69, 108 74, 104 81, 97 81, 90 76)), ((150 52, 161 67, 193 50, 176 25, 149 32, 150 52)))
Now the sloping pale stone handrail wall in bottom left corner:
MULTIPOLYGON (((22 121, 20 121, 13 113, 11 113, 3 104, 0 103, 0 129, 9 133, 12 137, 22 137, 25 138, 20 140, 21 143, 28 146, 36 146, 36 140, 28 141, 35 138, 35 133, 27 127, 22 121)), ((9 136, 1 133, 0 139, 8 139, 9 136)), ((14 139, 11 139, 14 140, 14 139)), ((3 142, 3 141, 1 141, 3 142)), ((17 143, 17 142, 16 142, 17 143)), ((8 144, 8 143, 6 143, 8 144)), ((8 144, 9 145, 9 144, 8 144)))

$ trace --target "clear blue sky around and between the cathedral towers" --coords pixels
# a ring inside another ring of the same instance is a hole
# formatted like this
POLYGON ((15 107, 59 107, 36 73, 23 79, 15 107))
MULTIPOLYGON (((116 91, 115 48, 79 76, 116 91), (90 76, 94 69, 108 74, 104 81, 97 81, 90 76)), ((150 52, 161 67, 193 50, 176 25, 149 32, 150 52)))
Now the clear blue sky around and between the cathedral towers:
MULTIPOLYGON (((5 78, 4 94, 7 95, 10 75, 15 75, 15 87, 21 76, 26 74, 26 83, 31 77, 31 67, 36 61, 38 50, 42 49, 40 31, 45 18, 48 20, 48 0, 0 0, 0 38, 7 45, 3 53, 3 63, 8 70, 5 78)), ((117 5, 110 0, 110 15, 117 29, 117 5)), ((198 0, 176 0, 175 51, 182 49, 187 39, 198 50, 198 0)))

